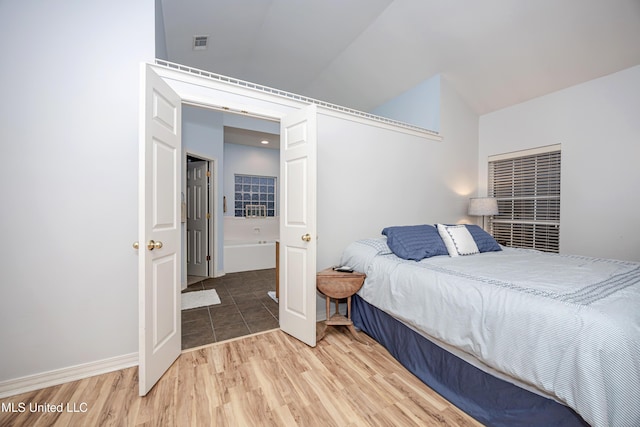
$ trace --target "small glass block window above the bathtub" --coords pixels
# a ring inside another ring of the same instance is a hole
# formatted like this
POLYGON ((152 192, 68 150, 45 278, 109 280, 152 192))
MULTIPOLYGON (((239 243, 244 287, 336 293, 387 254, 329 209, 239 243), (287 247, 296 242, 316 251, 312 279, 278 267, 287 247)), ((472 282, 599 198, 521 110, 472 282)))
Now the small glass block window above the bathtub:
POLYGON ((274 217, 278 215, 276 177, 236 174, 234 179, 234 216, 274 217))

